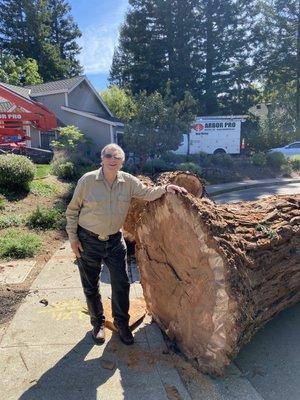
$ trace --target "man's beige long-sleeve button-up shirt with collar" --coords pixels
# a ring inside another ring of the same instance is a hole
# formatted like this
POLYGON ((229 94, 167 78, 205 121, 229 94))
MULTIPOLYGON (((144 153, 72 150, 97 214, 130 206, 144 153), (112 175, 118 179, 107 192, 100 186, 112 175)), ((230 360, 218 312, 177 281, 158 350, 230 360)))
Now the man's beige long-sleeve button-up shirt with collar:
POLYGON ((110 187, 102 168, 83 175, 75 188, 67 211, 66 231, 70 242, 78 239, 78 225, 100 236, 118 232, 125 221, 131 198, 156 200, 165 186, 147 187, 126 172, 119 171, 110 187))

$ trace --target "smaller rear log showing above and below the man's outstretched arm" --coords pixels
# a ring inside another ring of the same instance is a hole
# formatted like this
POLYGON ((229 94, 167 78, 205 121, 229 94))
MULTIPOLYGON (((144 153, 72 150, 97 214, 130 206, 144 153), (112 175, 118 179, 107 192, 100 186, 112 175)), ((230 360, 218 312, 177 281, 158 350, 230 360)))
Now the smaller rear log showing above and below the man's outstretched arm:
MULTIPOLYGON (((146 176, 138 176, 138 178, 146 186, 154 186, 154 182, 146 176)), ((195 174, 191 172, 164 172, 158 175, 155 183, 159 186, 173 183, 174 185, 183 186, 186 190, 197 197, 204 195, 204 182, 195 174)), ((130 204, 130 208, 124 223, 123 232, 124 237, 128 242, 135 242, 135 231, 137 221, 140 218, 142 211, 147 204, 144 200, 133 199, 130 204)))

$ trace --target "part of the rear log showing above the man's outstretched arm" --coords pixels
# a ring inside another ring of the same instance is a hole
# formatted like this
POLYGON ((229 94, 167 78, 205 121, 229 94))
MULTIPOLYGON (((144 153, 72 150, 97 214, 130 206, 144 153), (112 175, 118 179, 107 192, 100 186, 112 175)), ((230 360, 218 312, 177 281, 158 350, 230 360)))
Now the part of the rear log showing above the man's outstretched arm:
POLYGON ((198 175, 192 172, 172 171, 163 172, 156 179, 157 185, 167 185, 173 183, 174 185, 184 187, 190 194, 196 197, 204 195, 204 181, 198 175))

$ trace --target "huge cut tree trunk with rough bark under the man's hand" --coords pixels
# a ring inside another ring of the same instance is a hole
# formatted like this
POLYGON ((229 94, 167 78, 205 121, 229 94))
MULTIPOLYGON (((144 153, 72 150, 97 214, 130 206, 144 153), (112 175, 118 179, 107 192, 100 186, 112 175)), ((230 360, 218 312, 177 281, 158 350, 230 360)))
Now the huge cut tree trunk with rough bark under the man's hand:
POLYGON ((300 195, 216 205, 167 194, 137 228, 148 310, 199 368, 220 375, 300 300, 300 195))

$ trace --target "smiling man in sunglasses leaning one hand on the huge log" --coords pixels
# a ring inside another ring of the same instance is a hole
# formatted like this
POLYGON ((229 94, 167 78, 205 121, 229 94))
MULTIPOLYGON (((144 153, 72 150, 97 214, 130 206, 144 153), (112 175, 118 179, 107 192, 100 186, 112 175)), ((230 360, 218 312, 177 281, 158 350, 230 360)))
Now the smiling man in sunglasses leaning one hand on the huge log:
POLYGON ((123 343, 133 344, 129 328, 129 279, 127 249, 121 228, 131 198, 156 200, 164 193, 184 193, 176 185, 146 187, 126 172, 120 171, 124 151, 116 144, 101 152, 102 167, 83 175, 68 205, 67 233, 76 255, 92 329, 97 344, 105 341, 103 306, 99 293, 101 263, 109 269, 112 287, 112 314, 123 343))

